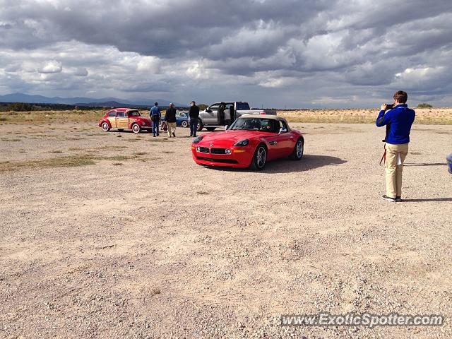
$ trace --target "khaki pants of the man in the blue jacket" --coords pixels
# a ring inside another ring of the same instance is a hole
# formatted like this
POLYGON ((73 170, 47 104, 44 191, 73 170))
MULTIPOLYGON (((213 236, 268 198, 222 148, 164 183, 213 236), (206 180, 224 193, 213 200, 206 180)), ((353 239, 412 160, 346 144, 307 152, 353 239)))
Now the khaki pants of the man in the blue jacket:
POLYGON ((408 143, 401 145, 386 143, 385 148, 386 196, 396 198, 397 196, 402 196, 403 162, 408 154, 408 143), (397 165, 397 155, 400 155, 401 165, 397 165))

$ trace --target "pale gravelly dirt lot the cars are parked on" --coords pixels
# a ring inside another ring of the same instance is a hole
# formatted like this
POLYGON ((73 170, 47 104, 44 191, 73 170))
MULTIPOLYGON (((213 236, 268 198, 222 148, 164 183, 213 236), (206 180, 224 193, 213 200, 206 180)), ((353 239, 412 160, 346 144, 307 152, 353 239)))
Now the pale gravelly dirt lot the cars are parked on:
POLYGON ((1 338, 451 338, 452 126, 415 125, 388 203, 371 124, 292 124, 301 162, 211 169, 179 138, 0 126, 1 338), (282 327, 281 314, 444 314, 282 327))

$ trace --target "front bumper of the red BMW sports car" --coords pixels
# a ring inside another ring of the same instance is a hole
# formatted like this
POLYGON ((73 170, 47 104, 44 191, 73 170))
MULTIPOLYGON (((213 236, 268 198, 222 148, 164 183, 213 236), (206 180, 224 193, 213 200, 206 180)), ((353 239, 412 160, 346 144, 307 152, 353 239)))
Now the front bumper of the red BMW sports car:
POLYGON ((249 146, 232 147, 231 154, 215 154, 211 153, 211 148, 200 145, 204 148, 204 152, 196 150, 198 144, 191 145, 191 155, 198 165, 223 166, 223 167, 249 167, 254 153, 249 146), (206 150, 208 149, 208 152, 206 150))

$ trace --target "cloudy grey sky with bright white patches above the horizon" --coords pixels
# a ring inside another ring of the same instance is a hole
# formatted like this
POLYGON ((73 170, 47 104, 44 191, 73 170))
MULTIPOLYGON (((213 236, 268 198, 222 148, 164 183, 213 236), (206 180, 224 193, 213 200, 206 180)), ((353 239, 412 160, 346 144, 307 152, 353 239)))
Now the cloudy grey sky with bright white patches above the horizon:
POLYGON ((0 95, 452 106, 450 0, 0 0, 0 95))

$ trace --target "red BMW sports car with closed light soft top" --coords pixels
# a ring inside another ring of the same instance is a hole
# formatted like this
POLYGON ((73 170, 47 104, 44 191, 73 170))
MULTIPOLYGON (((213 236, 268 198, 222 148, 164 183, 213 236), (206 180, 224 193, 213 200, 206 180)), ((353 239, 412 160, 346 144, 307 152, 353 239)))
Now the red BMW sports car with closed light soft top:
POLYGON ((224 132, 206 133, 191 144, 199 165, 263 169, 266 162, 281 157, 303 157, 302 133, 274 115, 244 114, 224 132))

